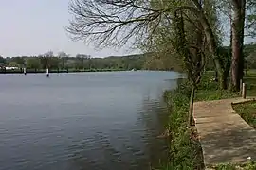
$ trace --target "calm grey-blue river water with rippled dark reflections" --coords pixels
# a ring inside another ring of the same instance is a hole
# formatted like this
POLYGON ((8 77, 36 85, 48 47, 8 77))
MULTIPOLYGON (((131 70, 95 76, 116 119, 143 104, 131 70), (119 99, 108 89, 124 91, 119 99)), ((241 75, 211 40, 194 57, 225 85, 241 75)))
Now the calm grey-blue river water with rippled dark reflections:
POLYGON ((0 75, 0 170, 144 170, 174 72, 0 75))

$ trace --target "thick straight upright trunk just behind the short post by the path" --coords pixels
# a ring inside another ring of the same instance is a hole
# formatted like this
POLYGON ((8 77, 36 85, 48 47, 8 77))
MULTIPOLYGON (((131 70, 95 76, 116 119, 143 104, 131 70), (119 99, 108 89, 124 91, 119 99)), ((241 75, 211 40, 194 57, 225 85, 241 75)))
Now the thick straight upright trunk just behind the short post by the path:
POLYGON ((240 90, 240 79, 244 76, 244 27, 245 27, 245 6, 246 0, 233 0, 232 20, 232 62, 231 62, 231 90, 240 90))

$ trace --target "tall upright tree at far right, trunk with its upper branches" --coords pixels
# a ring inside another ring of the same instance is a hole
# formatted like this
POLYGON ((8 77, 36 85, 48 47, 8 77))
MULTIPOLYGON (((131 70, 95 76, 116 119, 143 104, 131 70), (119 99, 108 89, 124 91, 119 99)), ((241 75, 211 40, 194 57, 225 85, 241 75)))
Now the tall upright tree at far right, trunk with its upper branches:
POLYGON ((232 56, 230 89, 239 91, 243 79, 245 59, 244 37, 254 37, 256 29, 255 0, 221 0, 219 9, 230 20, 230 50, 232 56), (245 34, 246 33, 246 34, 245 34))

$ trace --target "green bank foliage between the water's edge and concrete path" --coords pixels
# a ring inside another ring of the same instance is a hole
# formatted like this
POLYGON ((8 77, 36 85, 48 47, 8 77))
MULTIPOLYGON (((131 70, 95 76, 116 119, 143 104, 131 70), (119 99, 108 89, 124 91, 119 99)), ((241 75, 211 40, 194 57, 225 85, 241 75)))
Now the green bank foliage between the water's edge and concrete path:
POLYGON ((164 93, 164 98, 170 110, 166 126, 168 133, 169 162, 161 164, 159 170, 193 170, 202 169, 201 147, 193 131, 188 127, 190 86, 186 80, 179 80, 178 88, 164 93))

